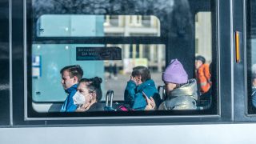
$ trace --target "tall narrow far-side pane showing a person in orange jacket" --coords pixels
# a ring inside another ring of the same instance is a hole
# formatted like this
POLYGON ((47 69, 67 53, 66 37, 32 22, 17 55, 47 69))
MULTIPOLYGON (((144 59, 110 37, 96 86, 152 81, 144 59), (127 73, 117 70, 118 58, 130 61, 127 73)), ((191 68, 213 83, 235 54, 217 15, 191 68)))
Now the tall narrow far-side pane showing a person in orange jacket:
POLYGON ((198 83, 198 109, 209 109, 212 105, 211 65, 211 16, 210 12, 195 15, 195 78, 198 83))

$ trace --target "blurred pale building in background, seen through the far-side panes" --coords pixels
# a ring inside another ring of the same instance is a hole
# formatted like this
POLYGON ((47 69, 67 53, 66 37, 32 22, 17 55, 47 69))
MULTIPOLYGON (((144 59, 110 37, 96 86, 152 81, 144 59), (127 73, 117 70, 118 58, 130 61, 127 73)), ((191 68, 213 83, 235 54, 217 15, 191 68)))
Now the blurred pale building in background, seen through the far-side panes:
MULTIPOLYGON (((155 16, 148 15, 106 15, 104 17, 104 35, 114 37, 150 37, 160 36, 161 23, 155 16)), ((165 65, 165 45, 125 44, 110 45, 122 48, 122 62, 116 62, 118 70, 131 72, 138 65, 148 66, 154 72, 161 72, 165 65)), ((195 52, 211 62, 211 15, 199 12, 195 15, 195 52)), ((113 65, 105 62, 105 66, 113 65)))

